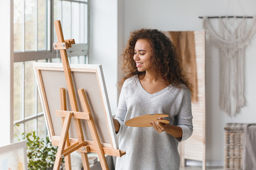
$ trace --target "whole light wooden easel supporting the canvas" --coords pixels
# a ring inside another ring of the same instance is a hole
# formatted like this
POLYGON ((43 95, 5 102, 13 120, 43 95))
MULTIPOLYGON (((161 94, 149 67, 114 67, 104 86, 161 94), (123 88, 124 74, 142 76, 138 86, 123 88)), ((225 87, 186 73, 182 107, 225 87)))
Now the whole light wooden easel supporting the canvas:
POLYGON ((108 169, 107 161, 105 159, 105 154, 110 154, 116 157, 122 157, 125 152, 122 152, 119 149, 111 149, 111 148, 103 148, 100 142, 100 137, 97 133, 97 129, 95 127, 95 122, 92 118, 92 113, 90 111, 90 107, 85 96, 85 91, 83 89, 78 90, 78 95, 80 98, 80 102, 82 103, 83 112, 78 111, 78 103, 75 98, 75 90, 73 86, 73 80, 71 77, 70 65, 68 63, 68 55, 67 49, 71 47, 72 44, 75 44, 75 40, 64 40, 63 31, 61 28, 60 21, 55 21, 55 30, 57 33, 58 42, 53 44, 55 50, 60 50, 61 60, 63 62, 63 68, 65 73, 65 80, 68 87, 68 95, 70 98, 70 105, 72 111, 67 111, 66 99, 65 99, 65 89, 60 88, 60 108, 61 111, 56 111, 56 115, 62 117, 63 129, 60 135, 60 141, 58 143, 58 152, 56 154, 54 168, 55 170, 60 169, 60 163, 63 158, 65 158, 65 167, 66 169, 71 169, 70 163, 70 154, 79 150, 81 152, 82 157, 82 165, 84 169, 90 169, 90 165, 88 162, 87 153, 91 150, 98 154, 100 159, 100 164, 102 169, 108 169), (78 142, 73 145, 70 145, 68 130, 70 128, 71 119, 75 121, 75 129, 77 132, 78 142), (88 127, 90 128, 90 133, 92 135, 93 146, 88 145, 84 140, 84 136, 82 134, 82 125, 80 120, 87 120, 88 127))

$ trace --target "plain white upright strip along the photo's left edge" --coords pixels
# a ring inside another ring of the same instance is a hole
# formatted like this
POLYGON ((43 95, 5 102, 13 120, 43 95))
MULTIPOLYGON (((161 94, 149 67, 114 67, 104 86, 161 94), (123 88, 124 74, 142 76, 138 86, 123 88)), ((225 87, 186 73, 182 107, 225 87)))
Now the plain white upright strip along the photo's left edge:
POLYGON ((0 146, 7 145, 13 139, 13 3, 12 1, 0 1, 0 20, 3 26, 0 28, 0 146))

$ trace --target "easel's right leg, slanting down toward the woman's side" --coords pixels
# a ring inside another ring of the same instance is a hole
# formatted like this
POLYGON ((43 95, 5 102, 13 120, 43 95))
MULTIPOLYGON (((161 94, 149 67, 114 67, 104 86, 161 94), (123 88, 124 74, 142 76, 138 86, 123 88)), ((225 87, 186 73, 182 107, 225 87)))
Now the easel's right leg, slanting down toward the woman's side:
MULTIPOLYGON (((88 104, 88 101, 87 101, 87 98, 85 96, 85 91, 83 89, 79 89, 78 90, 78 95, 80 97, 80 101, 82 103, 83 110, 85 112, 91 113, 90 107, 89 107, 89 104, 88 104)), ((88 123, 88 126, 90 128, 92 139, 95 142, 95 147, 97 149, 97 154, 98 154, 98 157, 100 159, 100 164, 102 166, 102 169, 108 170, 105 154, 103 152, 102 145, 101 145, 101 142, 100 142, 100 137, 99 137, 99 135, 97 133, 97 130, 96 130, 93 118, 91 120, 87 120, 87 123, 88 123)))

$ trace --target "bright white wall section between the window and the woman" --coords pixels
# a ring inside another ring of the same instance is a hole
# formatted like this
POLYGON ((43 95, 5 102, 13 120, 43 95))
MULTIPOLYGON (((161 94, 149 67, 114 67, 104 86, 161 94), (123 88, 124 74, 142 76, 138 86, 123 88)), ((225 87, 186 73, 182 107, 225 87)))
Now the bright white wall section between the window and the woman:
POLYGON ((117 0, 90 1, 90 64, 102 64, 112 114, 117 108, 117 0))

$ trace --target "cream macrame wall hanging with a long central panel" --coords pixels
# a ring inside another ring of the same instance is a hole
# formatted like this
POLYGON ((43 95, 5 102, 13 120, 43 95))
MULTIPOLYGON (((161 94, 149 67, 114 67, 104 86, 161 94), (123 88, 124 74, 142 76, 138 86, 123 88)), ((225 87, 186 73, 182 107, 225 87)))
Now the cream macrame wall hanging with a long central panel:
POLYGON ((255 34, 256 17, 203 17, 203 28, 213 45, 219 48, 220 109, 233 117, 245 106, 245 47, 255 34), (219 30, 213 28, 210 18, 218 18, 219 30), (249 27, 247 18, 252 18, 249 27), (232 23, 228 25, 230 20, 232 23))

